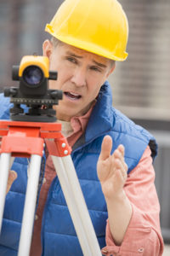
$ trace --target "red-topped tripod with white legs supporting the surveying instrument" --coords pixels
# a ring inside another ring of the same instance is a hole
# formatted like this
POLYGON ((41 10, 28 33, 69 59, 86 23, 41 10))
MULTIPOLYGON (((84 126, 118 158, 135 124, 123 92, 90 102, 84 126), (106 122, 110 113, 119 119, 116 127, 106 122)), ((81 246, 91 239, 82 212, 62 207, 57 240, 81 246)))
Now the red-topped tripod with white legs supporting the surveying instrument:
POLYGON ((57 123, 3 120, 0 121, 0 136, 3 137, 0 150, 0 230, 7 190, 8 170, 11 167, 10 160, 14 160, 14 157, 18 156, 31 157, 18 256, 29 256, 30 253, 37 187, 45 145, 52 156, 54 168, 59 177, 83 255, 101 255, 94 227, 89 218, 88 208, 77 179, 77 173, 71 160, 71 148, 61 134, 61 125, 57 123))

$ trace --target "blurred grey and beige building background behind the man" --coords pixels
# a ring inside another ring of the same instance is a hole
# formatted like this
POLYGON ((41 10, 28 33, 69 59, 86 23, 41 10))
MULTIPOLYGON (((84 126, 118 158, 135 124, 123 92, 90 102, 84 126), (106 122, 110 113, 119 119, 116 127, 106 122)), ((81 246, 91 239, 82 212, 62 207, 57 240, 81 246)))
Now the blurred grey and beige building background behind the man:
MULTIPOLYGON (((23 55, 42 55, 44 32, 61 0, 0 0, 0 91, 14 85, 12 65, 23 55)), ((170 244, 170 1, 120 0, 129 21, 128 58, 110 78, 114 106, 151 131, 161 230, 170 244)), ((16 82, 15 82, 16 83, 16 82)), ((169 254, 170 255, 170 249, 169 254)))

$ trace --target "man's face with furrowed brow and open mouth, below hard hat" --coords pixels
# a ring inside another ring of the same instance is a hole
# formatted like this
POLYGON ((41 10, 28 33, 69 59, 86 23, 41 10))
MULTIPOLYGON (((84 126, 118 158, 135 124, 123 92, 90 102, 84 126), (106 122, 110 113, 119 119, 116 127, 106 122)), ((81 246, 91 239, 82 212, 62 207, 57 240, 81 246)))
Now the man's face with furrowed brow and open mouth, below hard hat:
POLYGON ((55 107, 57 118, 70 121, 87 113, 114 69, 111 61, 69 44, 54 48, 48 40, 43 44, 43 55, 49 58, 50 70, 58 72, 58 79, 50 80, 49 88, 63 90, 63 99, 55 107))

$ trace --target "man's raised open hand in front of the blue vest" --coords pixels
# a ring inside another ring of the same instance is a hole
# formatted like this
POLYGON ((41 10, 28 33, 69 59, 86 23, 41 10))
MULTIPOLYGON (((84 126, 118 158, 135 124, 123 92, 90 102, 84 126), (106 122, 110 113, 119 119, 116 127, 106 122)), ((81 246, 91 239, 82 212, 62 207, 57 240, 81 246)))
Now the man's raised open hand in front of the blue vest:
POLYGON ((127 179, 127 164, 124 160, 123 145, 119 145, 113 154, 111 154, 111 148, 112 139, 110 136, 105 136, 99 154, 97 171, 106 199, 121 194, 127 179))

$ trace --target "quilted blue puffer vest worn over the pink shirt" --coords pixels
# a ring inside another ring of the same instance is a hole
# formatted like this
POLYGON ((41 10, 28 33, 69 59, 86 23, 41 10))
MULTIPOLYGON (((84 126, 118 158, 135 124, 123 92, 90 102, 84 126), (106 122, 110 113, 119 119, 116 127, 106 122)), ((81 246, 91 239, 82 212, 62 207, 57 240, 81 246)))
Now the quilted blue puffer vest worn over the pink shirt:
MULTIPOLYGON (((9 102, 3 95, 0 97, 0 104, 0 118, 8 119, 9 102)), ((105 83, 99 92, 98 101, 88 121, 87 130, 74 145, 71 154, 100 247, 105 247, 105 224, 108 215, 105 198, 97 177, 96 164, 101 143, 106 134, 112 137, 112 151, 120 143, 125 146, 128 172, 131 172, 138 165, 148 144, 152 150, 153 158, 156 156, 155 139, 148 131, 139 125, 134 125, 130 119, 112 108, 111 88, 108 83, 105 83)), ((1 256, 17 255, 26 194, 27 160, 16 158, 12 169, 18 172, 18 178, 14 181, 6 198, 3 228, 0 236, 1 256)), ((43 212, 42 255, 82 255, 82 249, 58 177, 55 177, 51 184, 43 212)))

